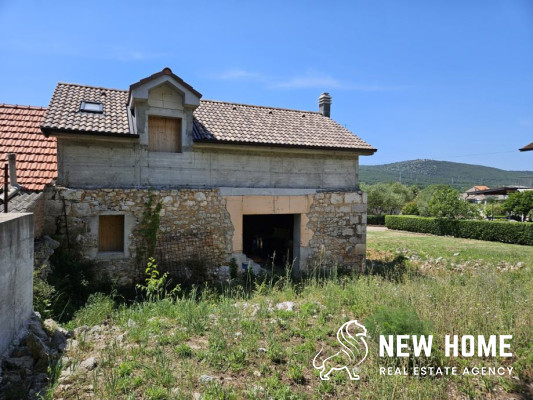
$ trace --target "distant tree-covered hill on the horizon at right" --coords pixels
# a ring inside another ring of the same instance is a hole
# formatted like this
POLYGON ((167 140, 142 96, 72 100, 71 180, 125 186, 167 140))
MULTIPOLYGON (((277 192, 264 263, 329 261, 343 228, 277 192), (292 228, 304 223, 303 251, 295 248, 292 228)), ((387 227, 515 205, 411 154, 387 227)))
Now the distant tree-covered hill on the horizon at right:
POLYGON ((505 171, 482 165, 449 161, 411 160, 383 165, 361 165, 359 180, 362 183, 401 182, 421 187, 445 183, 464 190, 474 185, 533 186, 533 171, 505 171))

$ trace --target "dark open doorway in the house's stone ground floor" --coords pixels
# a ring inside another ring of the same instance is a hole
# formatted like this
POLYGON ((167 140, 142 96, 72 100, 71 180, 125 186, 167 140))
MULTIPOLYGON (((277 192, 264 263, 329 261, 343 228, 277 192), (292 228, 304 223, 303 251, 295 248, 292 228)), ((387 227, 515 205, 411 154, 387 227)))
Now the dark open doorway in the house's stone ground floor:
POLYGON ((285 267, 294 259, 295 214, 243 215, 243 250, 263 267, 285 267))

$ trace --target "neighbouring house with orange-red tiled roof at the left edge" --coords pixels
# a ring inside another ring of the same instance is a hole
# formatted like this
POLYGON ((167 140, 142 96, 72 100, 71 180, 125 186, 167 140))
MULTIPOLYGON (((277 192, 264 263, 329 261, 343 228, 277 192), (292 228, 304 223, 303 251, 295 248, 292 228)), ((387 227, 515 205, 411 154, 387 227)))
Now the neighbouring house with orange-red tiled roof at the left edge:
MULTIPOLYGON (((9 164, 8 212, 33 212, 35 237, 44 227, 44 187, 57 178, 56 139, 41 132, 45 112, 44 107, 0 104, 0 166, 9 164)), ((2 169, 0 212, 3 190, 2 169)))

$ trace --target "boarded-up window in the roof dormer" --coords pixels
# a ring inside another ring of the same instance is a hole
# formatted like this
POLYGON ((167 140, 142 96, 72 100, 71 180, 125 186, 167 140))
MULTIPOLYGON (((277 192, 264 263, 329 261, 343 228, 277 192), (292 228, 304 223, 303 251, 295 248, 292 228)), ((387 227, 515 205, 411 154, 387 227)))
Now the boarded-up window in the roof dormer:
POLYGON ((181 120, 149 116, 148 150, 165 153, 181 152, 181 120))

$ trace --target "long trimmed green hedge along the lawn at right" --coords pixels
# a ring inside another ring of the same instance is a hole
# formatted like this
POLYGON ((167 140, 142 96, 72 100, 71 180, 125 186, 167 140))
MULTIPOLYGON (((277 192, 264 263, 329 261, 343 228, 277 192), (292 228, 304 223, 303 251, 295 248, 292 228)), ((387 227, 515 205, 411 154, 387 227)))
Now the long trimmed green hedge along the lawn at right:
POLYGON ((389 229, 533 246, 533 224, 387 215, 389 229))

